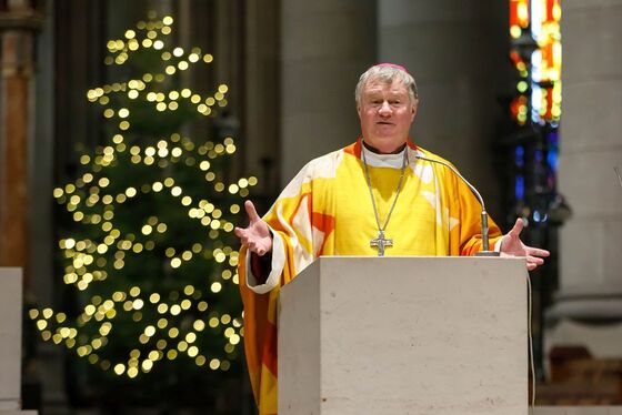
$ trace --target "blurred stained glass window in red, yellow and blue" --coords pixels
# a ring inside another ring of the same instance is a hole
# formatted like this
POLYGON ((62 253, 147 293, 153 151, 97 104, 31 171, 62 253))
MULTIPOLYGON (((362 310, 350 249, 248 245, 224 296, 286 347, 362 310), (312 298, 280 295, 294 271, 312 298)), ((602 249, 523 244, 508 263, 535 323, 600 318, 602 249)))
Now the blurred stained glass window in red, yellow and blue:
MULTIPOLYGON (((560 0, 510 0, 510 59, 518 74, 510 113, 518 126, 531 126, 538 135, 535 146, 519 143, 514 149, 518 204, 525 203, 530 191, 549 193, 555 188, 562 101, 560 20, 560 0), (533 176, 531 190, 525 190, 525 169, 533 176)), ((543 212, 529 211, 533 221, 546 220, 543 212)))

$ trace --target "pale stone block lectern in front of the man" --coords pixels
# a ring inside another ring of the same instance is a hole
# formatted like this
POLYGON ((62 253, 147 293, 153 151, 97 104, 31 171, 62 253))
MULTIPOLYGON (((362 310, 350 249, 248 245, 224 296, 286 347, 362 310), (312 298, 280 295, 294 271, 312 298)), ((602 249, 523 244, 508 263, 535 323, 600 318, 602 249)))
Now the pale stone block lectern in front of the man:
POLYGON ((524 259, 320 257, 282 287, 279 414, 528 413, 524 259))

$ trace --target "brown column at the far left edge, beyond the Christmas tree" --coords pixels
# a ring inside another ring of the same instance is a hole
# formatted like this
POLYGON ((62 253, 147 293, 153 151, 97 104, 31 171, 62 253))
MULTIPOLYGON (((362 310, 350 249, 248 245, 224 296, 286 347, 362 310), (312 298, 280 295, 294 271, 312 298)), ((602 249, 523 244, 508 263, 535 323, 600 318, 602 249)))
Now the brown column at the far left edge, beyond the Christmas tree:
POLYGON ((0 265, 28 260, 28 141, 34 31, 41 16, 29 1, 9 1, 0 11, 0 265))

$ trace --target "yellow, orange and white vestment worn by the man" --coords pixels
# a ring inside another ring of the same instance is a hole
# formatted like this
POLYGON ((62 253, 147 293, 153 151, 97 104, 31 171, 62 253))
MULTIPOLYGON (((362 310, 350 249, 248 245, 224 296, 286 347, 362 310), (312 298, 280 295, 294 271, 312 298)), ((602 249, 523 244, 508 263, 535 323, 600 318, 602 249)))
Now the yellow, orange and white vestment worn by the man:
MULTIPOLYGON (((273 234, 272 271, 264 284, 239 275, 244 302, 244 345, 260 414, 277 413, 277 298, 279 289, 320 255, 377 255, 378 236, 361 160, 365 151, 381 224, 395 196, 402 154, 374 154, 362 141, 308 163, 263 217, 273 234)), ((471 255, 481 249, 481 206, 448 168, 417 160, 439 156, 410 143, 402 190, 385 233, 385 255, 471 255)), ((491 244, 501 237, 490 221, 491 244)))

